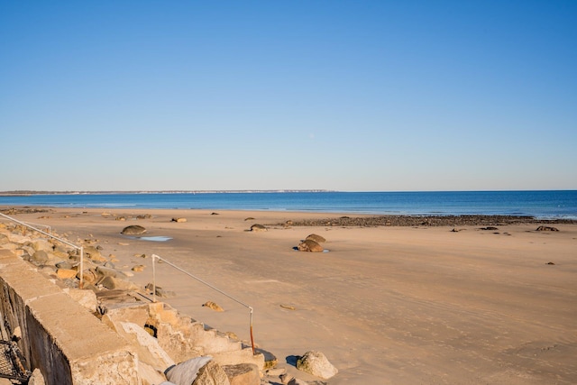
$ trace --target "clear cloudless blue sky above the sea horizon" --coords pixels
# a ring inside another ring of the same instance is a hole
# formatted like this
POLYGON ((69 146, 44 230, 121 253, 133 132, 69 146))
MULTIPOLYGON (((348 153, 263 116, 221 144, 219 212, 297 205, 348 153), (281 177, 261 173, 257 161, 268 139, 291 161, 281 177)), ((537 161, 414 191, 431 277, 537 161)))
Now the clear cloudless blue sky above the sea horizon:
POLYGON ((0 190, 577 188, 577 1, 0 0, 0 190))

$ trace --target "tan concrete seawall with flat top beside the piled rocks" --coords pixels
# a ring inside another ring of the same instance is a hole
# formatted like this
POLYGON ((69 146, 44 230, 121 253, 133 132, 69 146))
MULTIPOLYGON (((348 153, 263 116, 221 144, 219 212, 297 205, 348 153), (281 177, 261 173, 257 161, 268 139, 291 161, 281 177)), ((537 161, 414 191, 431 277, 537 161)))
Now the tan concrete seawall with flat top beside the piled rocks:
MULTIPOLYGON (((131 347, 28 262, 0 250, 0 310, 46 385, 140 384, 131 347)), ((4 320, 2 320, 4 322, 4 320)))

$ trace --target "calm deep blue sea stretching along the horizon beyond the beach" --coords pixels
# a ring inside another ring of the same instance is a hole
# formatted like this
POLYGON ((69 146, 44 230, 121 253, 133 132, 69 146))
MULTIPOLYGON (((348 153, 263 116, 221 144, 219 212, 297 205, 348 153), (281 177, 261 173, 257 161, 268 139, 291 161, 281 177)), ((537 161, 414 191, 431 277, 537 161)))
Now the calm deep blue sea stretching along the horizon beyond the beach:
POLYGON ((529 215, 577 219, 577 190, 59 194, 0 197, 0 206, 203 208, 377 215, 529 215))

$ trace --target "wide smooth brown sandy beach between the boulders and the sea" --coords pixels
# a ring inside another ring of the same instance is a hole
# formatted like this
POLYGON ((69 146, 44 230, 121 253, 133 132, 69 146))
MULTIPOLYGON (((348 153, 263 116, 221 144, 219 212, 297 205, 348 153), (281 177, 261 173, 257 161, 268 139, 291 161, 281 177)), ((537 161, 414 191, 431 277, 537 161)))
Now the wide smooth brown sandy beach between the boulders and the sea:
MULTIPOLYGON (((313 378, 290 363, 318 350, 339 369, 329 384, 577 383, 577 225, 546 233, 536 225, 458 232, 274 225, 331 216, 338 215, 149 209, 14 215, 73 242, 96 239, 103 255, 118 258, 117 267, 147 265, 134 273, 139 284, 151 282, 156 253, 232 294, 254 307, 256 344, 304 380, 313 378), (152 217, 135 219, 144 214, 152 217), (127 220, 115 220, 119 215, 127 220), (269 231, 248 232, 253 224, 269 231), (126 225, 172 239, 127 237, 120 234, 126 225), (313 233, 326 238, 328 252, 293 250, 313 233)), ((157 265, 157 285, 177 293, 166 302, 182 313, 249 340, 249 313, 241 305, 166 264, 157 265), (202 307, 207 300, 225 311, 202 307)))

